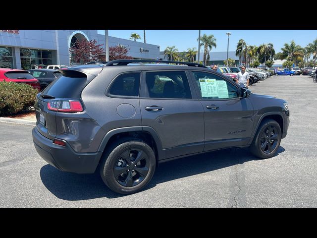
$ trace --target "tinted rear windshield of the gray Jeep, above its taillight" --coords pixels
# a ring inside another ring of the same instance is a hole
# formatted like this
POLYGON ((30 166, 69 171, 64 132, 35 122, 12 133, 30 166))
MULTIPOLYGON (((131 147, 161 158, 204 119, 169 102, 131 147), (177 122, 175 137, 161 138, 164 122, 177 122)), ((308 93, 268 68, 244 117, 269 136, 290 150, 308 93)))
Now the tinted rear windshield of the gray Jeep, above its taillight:
POLYGON ((43 94, 55 98, 80 98, 87 82, 87 77, 84 76, 85 74, 79 72, 74 75, 62 75, 44 89, 43 94))

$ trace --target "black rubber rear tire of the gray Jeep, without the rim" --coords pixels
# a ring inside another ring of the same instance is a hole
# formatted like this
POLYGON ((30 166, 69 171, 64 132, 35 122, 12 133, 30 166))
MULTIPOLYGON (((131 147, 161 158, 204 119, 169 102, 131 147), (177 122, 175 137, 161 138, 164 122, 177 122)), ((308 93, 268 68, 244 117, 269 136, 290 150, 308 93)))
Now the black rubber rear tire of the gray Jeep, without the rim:
POLYGON ((152 148, 146 143, 140 141, 127 141, 116 146, 105 159, 106 161, 103 163, 103 166, 101 166, 101 177, 111 190, 122 194, 140 191, 150 182, 156 169, 156 159, 152 148), (125 187, 119 184, 113 173, 113 168, 117 162, 118 156, 127 149, 142 150, 149 158, 149 172, 147 176, 143 179, 143 181, 133 187, 125 187))

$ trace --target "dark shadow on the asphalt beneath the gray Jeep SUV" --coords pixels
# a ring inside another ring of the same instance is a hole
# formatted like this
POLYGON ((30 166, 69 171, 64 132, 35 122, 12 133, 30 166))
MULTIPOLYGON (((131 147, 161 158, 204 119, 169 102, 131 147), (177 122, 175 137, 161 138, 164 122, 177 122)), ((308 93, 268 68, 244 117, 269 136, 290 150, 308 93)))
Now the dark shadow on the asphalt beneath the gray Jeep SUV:
MULTIPOLYGON (((274 157, 284 151, 285 149, 280 146, 274 157)), ((274 159, 274 157, 269 159, 274 159)), ((162 182, 257 160, 261 159, 253 156, 247 148, 230 148, 161 163, 156 169, 152 180, 143 191, 151 189, 162 182)), ((129 196, 111 191, 100 178, 99 168, 94 174, 79 175, 61 172, 51 165, 45 165, 41 168, 40 176, 46 188, 57 198, 63 200, 79 201, 102 197, 117 198, 129 196)))

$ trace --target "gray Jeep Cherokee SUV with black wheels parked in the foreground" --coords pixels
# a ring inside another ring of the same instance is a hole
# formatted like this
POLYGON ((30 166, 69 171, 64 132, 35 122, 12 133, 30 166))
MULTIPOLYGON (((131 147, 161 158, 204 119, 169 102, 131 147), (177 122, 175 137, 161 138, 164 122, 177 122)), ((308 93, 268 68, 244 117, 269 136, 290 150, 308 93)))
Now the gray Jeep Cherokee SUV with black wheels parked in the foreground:
POLYGON ((253 94, 201 64, 114 60, 60 72, 37 95, 34 146, 61 171, 99 168, 118 193, 144 188, 159 162, 249 146, 272 157, 287 134, 284 100, 253 94))

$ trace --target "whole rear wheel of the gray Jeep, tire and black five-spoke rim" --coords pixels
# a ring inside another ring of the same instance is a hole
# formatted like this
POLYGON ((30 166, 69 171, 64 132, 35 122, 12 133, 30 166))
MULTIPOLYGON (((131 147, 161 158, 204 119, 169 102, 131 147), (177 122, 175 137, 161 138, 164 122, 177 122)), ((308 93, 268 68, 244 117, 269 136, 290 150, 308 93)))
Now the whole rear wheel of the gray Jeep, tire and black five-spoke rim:
POLYGON ((143 189, 152 179, 155 169, 152 148, 142 141, 130 140, 109 146, 103 156, 100 175, 112 191, 130 194, 143 189))

